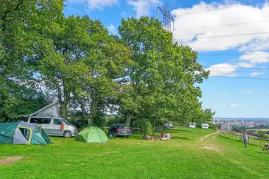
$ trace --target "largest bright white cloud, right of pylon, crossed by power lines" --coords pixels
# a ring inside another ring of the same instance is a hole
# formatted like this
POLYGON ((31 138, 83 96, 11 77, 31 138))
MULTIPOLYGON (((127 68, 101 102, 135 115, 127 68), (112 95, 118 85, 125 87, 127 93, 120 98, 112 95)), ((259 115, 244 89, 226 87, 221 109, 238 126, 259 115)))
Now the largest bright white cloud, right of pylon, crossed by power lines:
MULTIPOLYGON (((234 1, 225 1, 226 3, 205 3, 201 1, 192 8, 178 8, 172 11, 175 16, 175 39, 180 40, 194 48, 194 50, 227 50, 236 47, 245 46, 256 39, 256 44, 264 43, 264 48, 269 45, 268 34, 255 35, 253 33, 269 32, 269 6, 264 3, 263 6, 243 5, 234 1), (225 8, 232 6, 232 8, 225 8), (209 10, 209 11, 207 11, 209 10), (201 12, 202 11, 202 12, 201 12), (204 12, 207 11, 207 12, 204 12), (197 12, 197 13, 196 13, 197 12), (199 13, 200 12, 200 13, 199 13), (190 15, 186 15, 190 13, 190 15), (263 21, 263 23, 245 23, 253 21, 263 21), (245 23, 238 26, 223 26, 225 24, 245 23), (212 28, 202 28, 209 26, 222 26, 212 28), (182 30, 189 29, 192 30, 182 30), (195 28, 195 29, 194 29, 195 28), (180 30, 181 29, 181 30, 180 30), (252 34, 232 37, 215 37, 221 35, 252 34), (185 38, 198 39, 185 39, 185 38), (268 45, 266 45, 268 44, 268 45)), ((259 44, 261 45, 261 44, 259 44)), ((243 48, 243 47, 242 47, 243 48)))

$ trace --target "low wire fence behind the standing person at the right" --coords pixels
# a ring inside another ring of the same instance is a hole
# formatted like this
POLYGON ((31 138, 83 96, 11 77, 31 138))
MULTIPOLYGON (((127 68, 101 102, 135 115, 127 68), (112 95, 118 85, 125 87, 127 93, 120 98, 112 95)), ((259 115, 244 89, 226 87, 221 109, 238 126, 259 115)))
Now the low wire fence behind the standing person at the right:
MULTIPOLYGON (((243 137, 241 134, 236 135, 236 134, 232 134, 232 133, 220 132, 220 136, 222 136, 223 138, 229 138, 232 140, 243 142, 243 137)), ((268 144, 268 142, 269 142, 269 140, 263 140, 263 139, 252 138, 252 137, 248 138, 248 144, 256 145, 259 147, 264 147, 266 144, 268 144)))

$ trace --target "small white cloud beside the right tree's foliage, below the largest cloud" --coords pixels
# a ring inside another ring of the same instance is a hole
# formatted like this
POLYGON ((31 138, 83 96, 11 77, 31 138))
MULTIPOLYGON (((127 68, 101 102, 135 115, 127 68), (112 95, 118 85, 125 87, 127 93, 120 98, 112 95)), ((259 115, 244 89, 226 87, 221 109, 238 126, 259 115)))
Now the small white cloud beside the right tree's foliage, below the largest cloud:
POLYGON ((209 66, 209 68, 206 68, 205 70, 210 70, 210 76, 229 76, 229 77, 235 77, 236 73, 234 68, 235 66, 232 66, 231 64, 216 64, 209 66))

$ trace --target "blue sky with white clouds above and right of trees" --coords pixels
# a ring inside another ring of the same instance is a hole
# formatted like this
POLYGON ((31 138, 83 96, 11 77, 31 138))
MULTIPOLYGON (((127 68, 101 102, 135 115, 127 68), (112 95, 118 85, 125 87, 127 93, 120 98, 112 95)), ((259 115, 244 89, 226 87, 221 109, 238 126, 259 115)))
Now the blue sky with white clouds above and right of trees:
POLYGON ((211 71, 211 77, 199 85, 203 106, 216 111, 216 117, 269 117, 269 80, 254 79, 269 78, 267 69, 257 69, 269 68, 268 3, 68 0, 64 13, 100 19, 115 34, 121 18, 157 17, 157 6, 164 3, 175 18, 174 38, 197 50, 199 62, 211 71), (189 39, 193 37, 198 38, 189 39))

